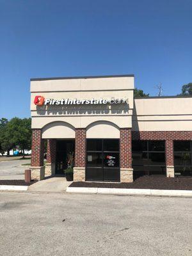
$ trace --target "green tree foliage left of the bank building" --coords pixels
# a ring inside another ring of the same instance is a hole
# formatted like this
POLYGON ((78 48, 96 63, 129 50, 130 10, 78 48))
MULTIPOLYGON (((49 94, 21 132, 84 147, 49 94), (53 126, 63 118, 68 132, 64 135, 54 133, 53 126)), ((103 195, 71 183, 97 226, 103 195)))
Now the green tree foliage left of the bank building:
POLYGON ((0 119, 0 150, 5 151, 19 147, 23 151, 31 148, 31 118, 0 119))

